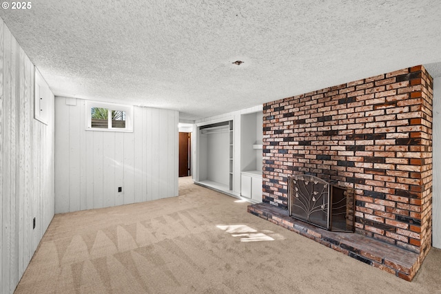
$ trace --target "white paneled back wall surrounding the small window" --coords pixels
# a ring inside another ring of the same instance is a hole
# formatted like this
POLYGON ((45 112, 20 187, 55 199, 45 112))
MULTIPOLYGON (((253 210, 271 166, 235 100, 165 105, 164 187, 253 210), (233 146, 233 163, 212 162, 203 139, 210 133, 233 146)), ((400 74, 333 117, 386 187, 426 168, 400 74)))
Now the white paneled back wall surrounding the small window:
POLYGON ((178 112, 134 107, 134 132, 86 131, 70 101, 55 98, 57 213, 178 196, 178 112))

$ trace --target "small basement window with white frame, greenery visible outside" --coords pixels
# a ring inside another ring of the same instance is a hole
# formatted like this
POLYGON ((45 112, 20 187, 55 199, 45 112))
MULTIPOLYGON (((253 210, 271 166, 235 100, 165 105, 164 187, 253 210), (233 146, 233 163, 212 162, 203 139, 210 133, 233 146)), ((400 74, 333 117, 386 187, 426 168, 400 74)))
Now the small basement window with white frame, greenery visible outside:
POLYGON ((91 131, 133 132, 133 107, 87 101, 86 129, 91 131))

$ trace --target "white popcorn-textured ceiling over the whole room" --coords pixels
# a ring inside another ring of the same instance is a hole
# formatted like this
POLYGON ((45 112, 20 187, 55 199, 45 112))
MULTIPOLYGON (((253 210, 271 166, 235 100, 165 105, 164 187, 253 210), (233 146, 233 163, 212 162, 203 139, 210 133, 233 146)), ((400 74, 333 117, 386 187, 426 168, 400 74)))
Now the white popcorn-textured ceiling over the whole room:
POLYGON ((0 17, 57 96, 188 120, 413 65, 441 76, 441 1, 41 0, 0 17))

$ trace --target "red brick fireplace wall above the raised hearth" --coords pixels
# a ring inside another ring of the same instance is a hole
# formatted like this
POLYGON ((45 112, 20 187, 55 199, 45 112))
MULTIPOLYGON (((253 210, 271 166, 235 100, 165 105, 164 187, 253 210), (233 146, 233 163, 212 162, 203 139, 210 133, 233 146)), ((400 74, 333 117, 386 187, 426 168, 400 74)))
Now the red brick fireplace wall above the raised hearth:
POLYGON ((335 180, 356 189, 357 233, 425 255, 432 88, 416 66, 263 105, 263 202, 286 208, 291 174, 335 180))

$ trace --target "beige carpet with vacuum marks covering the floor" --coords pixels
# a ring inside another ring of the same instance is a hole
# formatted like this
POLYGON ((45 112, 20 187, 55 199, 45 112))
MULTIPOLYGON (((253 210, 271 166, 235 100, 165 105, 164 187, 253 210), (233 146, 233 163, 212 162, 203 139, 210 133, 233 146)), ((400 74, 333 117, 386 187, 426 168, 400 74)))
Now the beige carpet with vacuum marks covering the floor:
POLYGON ((16 293, 441 293, 441 251, 413 282, 247 213, 181 178, 180 196, 57 214, 16 293))

